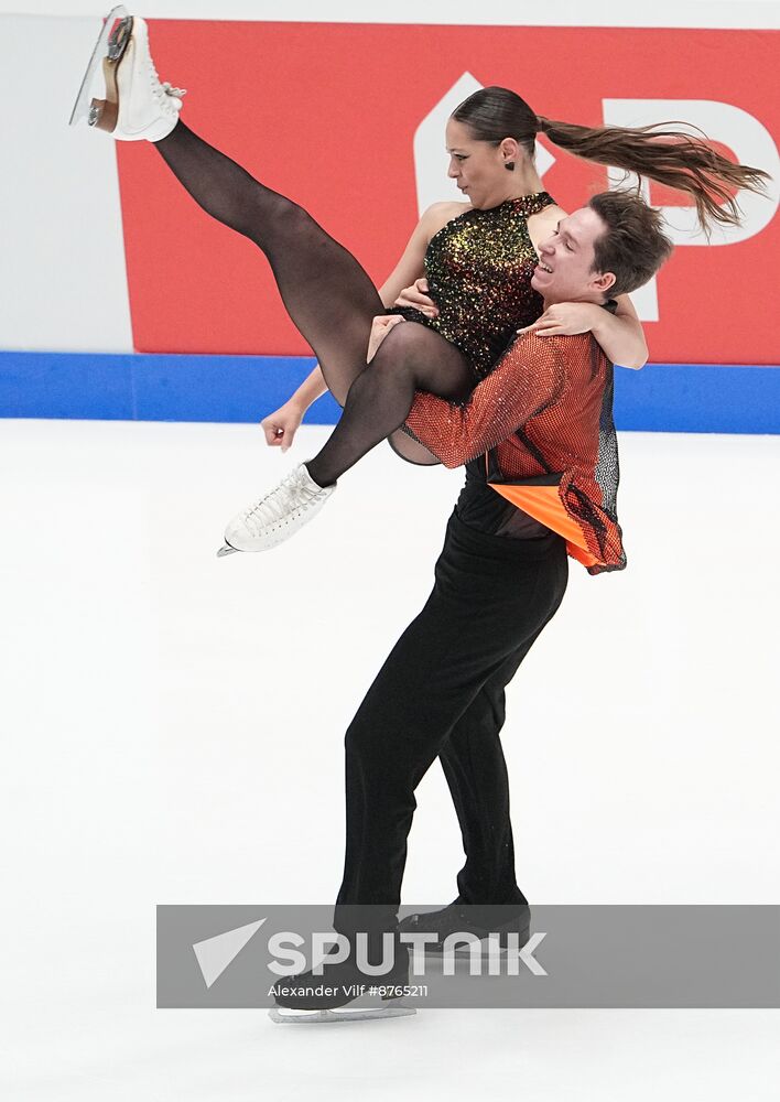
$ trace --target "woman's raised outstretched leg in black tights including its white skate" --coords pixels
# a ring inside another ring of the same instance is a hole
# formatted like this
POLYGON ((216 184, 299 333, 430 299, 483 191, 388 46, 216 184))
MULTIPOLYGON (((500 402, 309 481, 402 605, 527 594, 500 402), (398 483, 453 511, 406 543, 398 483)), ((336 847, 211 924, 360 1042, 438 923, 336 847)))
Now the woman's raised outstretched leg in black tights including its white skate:
POLYGON ((366 366, 371 318, 383 311, 350 253, 297 204, 264 187, 178 118, 184 89, 161 84, 143 19, 111 12, 82 82, 71 122, 119 141, 150 141, 196 203, 266 253, 288 312, 319 359, 339 403, 366 366), (106 99, 89 90, 102 65, 106 99))

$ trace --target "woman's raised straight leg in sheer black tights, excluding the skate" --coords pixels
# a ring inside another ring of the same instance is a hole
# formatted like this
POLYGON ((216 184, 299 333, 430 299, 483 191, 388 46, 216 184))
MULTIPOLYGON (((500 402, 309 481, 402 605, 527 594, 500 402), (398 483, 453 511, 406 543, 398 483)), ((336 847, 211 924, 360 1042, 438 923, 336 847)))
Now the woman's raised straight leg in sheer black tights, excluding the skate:
POLYGON ((343 406, 365 370, 371 320, 384 311, 358 261, 303 207, 259 183, 181 119, 155 145, 207 214, 266 253, 290 317, 343 406))

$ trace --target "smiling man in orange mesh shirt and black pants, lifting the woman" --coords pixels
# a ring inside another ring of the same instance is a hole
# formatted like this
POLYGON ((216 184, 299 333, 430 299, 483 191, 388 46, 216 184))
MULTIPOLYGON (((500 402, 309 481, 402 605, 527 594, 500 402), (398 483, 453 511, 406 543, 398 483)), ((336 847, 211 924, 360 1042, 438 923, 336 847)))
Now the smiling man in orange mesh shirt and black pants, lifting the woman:
MULTIPOLYGON (((637 195, 608 192, 559 223, 541 247, 533 285, 546 310, 564 301, 610 309, 611 295, 641 287, 671 251, 657 210, 637 195)), ((378 317, 375 337, 396 324, 378 317)), ((433 931, 440 948, 452 931, 517 931, 523 943, 528 904, 516 880, 499 737, 505 688, 561 603, 567 553, 594 574, 626 564, 615 508, 613 366, 591 333, 542 337, 534 328, 467 402, 419 392, 407 420, 447 466, 466 463, 467 480, 433 592, 346 735, 347 841, 334 927, 350 947, 358 931, 367 933, 375 955, 381 936, 391 934, 388 983, 408 982, 404 932, 433 931), (436 757, 466 864, 449 907, 398 927, 414 789, 436 757)), ((347 992, 312 997, 306 987, 366 982, 354 954, 324 970, 288 981, 279 1005, 332 1016, 349 1002, 347 992)))

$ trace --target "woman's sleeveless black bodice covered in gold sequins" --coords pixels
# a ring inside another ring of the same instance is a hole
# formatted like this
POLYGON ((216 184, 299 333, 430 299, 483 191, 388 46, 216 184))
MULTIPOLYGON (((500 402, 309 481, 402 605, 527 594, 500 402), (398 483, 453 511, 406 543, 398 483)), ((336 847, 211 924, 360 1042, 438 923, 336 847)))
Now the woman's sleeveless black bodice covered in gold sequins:
POLYGON ((426 317, 410 307, 392 313, 436 329, 484 378, 516 329, 542 313, 542 296, 531 287, 538 258, 528 218, 554 202, 537 192, 453 218, 425 252, 429 293, 438 315, 426 317))

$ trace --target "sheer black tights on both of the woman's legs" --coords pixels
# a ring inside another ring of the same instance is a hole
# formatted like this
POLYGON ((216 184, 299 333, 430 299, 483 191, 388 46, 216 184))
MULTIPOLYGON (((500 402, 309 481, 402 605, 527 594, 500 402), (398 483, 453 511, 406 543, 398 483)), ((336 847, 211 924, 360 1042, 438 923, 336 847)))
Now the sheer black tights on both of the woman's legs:
POLYGON ((449 399, 468 395, 476 380, 463 354, 433 329, 403 323, 367 367, 371 321, 384 306, 355 257, 296 203, 259 183, 181 120, 156 148, 204 210, 262 249, 290 317, 344 407, 325 446, 307 463, 315 482, 334 483, 391 433, 407 457, 424 463, 426 453, 427 462, 435 461, 394 430, 409 414, 415 390, 449 399))

